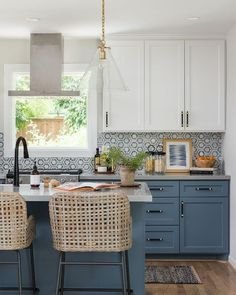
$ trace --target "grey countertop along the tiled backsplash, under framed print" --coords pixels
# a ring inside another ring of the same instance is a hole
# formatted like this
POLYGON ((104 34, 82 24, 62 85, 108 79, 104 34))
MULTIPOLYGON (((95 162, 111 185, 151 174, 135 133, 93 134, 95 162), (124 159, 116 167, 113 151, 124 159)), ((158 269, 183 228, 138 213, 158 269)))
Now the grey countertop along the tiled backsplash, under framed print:
MULTIPOLYGON (((119 180, 119 174, 86 174, 82 173, 80 176, 83 180, 119 180)), ((189 173, 166 173, 164 175, 158 174, 139 174, 135 176, 137 181, 150 180, 230 180, 229 175, 215 174, 215 175, 190 175, 189 173)))

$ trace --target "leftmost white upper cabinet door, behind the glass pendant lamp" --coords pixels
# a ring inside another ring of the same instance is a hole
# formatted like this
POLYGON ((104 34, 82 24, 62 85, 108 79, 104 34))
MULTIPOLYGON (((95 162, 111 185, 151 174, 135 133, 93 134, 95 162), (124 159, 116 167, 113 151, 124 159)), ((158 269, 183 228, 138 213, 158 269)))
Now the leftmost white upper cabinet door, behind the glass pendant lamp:
POLYGON ((144 129, 144 42, 110 41, 112 55, 128 91, 103 91, 103 130, 144 129))

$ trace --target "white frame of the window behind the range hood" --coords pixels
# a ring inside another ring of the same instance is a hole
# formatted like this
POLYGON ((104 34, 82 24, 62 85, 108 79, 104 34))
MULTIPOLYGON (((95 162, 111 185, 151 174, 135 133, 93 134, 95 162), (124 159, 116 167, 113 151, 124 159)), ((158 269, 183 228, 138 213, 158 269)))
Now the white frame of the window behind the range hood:
MULTIPOLYGON (((85 71, 86 64, 65 64, 64 72, 73 73, 85 71)), ((4 65, 4 156, 13 157, 15 149, 15 107, 14 98, 8 96, 8 90, 13 90, 14 73, 29 73, 28 64, 5 64, 4 65)), ((90 83, 94 83, 91 81, 90 83)), ((90 87, 92 88, 92 87, 90 87)), ((91 157, 97 145, 97 95, 91 89, 88 93, 87 133, 88 148, 75 147, 29 147, 30 157, 91 157)))

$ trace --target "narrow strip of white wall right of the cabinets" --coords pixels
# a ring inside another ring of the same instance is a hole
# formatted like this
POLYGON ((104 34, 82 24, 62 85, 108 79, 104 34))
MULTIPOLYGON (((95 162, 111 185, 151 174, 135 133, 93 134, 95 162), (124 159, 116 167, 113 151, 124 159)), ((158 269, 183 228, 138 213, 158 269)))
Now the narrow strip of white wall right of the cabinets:
POLYGON ((236 267, 236 25, 227 36, 227 121, 225 169, 231 175, 230 260, 236 267))

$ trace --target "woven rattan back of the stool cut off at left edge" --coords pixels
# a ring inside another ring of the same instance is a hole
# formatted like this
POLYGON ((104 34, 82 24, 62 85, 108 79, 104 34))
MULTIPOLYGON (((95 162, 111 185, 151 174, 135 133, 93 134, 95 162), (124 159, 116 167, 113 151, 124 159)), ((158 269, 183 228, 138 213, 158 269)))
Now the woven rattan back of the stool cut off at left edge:
POLYGON ((0 250, 27 245, 27 208, 19 193, 0 193, 0 250))

